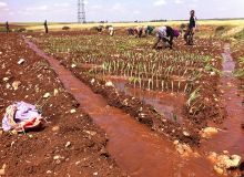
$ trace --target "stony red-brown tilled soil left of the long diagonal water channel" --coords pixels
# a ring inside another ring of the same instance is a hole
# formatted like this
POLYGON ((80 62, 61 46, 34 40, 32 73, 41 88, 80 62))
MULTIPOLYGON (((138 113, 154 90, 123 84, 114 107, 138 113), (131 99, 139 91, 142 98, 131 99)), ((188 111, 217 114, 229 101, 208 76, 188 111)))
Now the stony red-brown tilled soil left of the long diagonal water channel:
POLYGON ((125 176, 105 150, 105 133, 78 108, 49 64, 28 49, 21 35, 0 35, 0 114, 11 103, 24 101, 43 105, 48 121, 43 129, 27 135, 0 132, 4 175, 125 176), (24 63, 19 65, 20 59, 24 63), (11 86, 14 81, 21 82, 17 91, 11 86), (42 98, 45 93, 51 97, 42 98))

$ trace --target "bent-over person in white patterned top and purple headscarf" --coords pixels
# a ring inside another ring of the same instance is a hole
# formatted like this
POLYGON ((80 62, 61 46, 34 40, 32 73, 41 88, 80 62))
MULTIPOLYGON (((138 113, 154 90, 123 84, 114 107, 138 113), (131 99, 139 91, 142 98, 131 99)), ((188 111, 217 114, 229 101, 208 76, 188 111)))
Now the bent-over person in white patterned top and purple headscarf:
POLYGON ((156 32, 156 42, 153 45, 153 49, 157 48, 157 44, 160 43, 160 41, 169 43, 170 49, 172 49, 173 48, 173 39, 177 38, 181 34, 177 30, 172 29, 171 27, 156 28, 155 32, 156 32))

